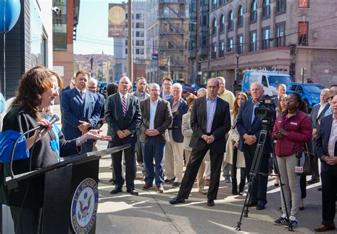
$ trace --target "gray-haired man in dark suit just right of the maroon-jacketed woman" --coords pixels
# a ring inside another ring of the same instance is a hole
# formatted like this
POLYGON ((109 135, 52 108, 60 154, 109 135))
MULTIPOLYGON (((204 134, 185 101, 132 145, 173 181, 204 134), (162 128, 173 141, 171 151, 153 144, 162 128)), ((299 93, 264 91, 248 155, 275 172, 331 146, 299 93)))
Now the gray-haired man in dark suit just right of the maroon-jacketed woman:
MULTIPOLYGON (((321 90, 320 95, 320 101, 319 104, 314 105, 311 110, 311 126, 312 126, 312 142, 315 141, 316 135, 317 135, 317 129, 319 127, 319 124, 321 122, 321 119, 323 118, 326 110, 330 107, 328 104, 328 89, 321 90)), ((314 144, 308 144, 309 151, 311 151, 311 157, 310 158, 310 167, 312 171, 312 176, 309 181, 307 181, 308 184, 315 184, 319 182, 319 158, 317 157, 316 150, 314 149, 314 144)))

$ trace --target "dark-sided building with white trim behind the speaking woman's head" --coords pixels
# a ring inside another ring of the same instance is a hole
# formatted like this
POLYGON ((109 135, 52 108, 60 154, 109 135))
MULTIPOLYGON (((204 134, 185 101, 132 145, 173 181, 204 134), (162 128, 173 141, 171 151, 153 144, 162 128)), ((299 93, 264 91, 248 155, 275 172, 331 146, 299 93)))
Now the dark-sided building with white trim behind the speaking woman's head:
POLYGON ((6 99, 14 97, 19 80, 36 65, 53 68, 52 0, 21 0, 21 13, 6 33, 6 81, 4 37, 0 37, 0 87, 6 99))

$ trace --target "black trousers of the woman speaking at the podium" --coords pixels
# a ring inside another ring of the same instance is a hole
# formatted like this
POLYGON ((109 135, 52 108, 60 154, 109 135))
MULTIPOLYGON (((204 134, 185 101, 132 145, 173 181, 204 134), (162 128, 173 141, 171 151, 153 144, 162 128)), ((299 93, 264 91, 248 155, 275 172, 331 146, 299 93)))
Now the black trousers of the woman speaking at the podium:
POLYGON ((42 208, 22 208, 11 206, 11 216, 16 234, 42 233, 42 208))

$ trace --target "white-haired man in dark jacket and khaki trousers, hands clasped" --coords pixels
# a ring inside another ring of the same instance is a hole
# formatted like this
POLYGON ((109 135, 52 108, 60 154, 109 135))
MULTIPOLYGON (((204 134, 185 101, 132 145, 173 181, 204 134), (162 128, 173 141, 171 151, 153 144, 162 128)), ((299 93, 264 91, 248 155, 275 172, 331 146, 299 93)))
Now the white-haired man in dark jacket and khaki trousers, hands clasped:
POLYGON ((172 85, 171 111, 173 116, 172 125, 169 127, 169 142, 165 146, 165 183, 174 181, 172 188, 178 188, 183 179, 183 134, 181 124, 183 115, 188 112, 188 105, 181 97, 183 87, 180 83, 172 85))

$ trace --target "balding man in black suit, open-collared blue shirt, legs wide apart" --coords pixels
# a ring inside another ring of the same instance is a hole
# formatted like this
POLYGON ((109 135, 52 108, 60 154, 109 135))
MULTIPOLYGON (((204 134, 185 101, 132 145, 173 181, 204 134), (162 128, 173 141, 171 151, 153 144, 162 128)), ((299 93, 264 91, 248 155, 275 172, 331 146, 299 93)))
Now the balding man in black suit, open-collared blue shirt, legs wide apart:
POLYGON ((230 106, 217 97, 219 81, 215 78, 207 81, 208 94, 193 102, 191 112, 191 158, 186 166, 183 181, 176 198, 170 203, 185 202, 191 193, 200 164, 210 150, 210 187, 207 194, 207 206, 214 206, 220 182, 220 171, 225 153, 225 134, 230 130, 230 106))

